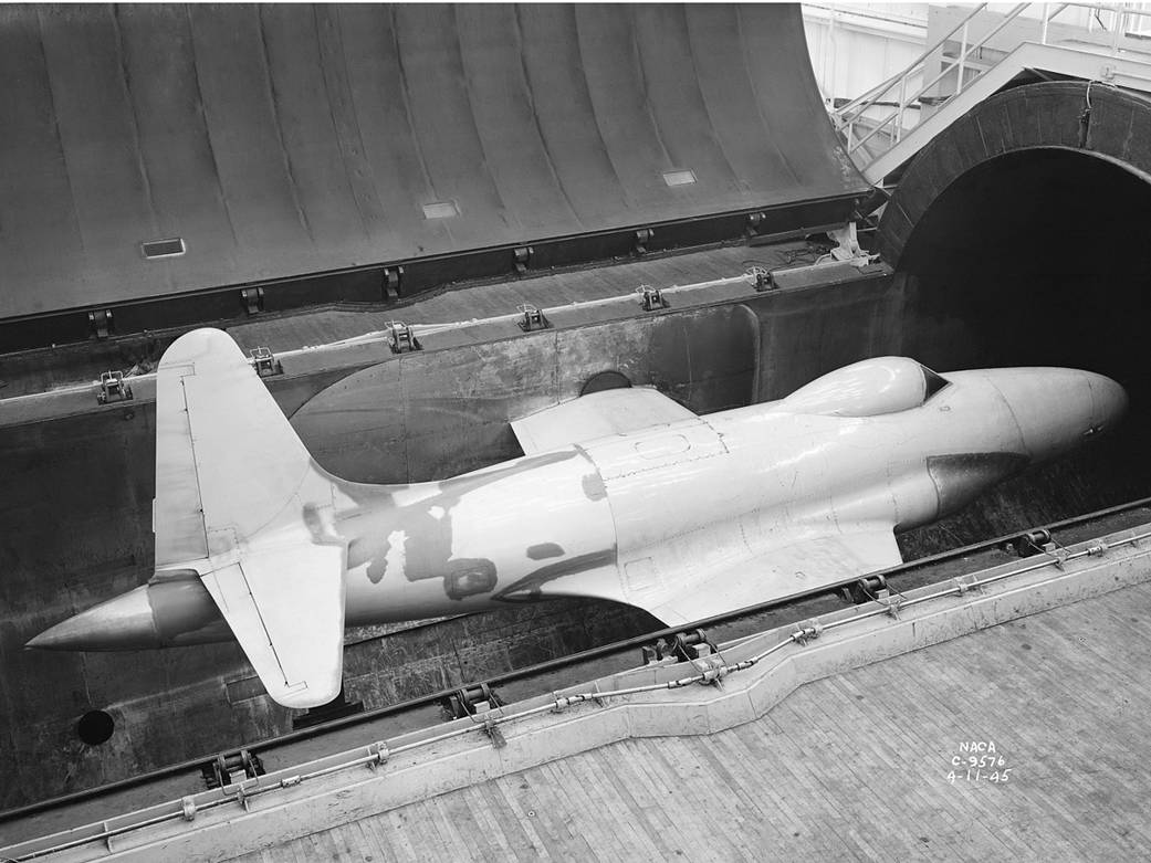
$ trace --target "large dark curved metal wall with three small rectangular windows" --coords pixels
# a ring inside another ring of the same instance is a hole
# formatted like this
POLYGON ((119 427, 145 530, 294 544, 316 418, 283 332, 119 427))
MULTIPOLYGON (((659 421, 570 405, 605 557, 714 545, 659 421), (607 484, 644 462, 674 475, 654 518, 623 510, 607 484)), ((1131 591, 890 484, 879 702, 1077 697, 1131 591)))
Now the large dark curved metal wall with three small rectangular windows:
POLYGON ((798 6, 9 6, 0 82, 0 319, 866 189, 798 6))

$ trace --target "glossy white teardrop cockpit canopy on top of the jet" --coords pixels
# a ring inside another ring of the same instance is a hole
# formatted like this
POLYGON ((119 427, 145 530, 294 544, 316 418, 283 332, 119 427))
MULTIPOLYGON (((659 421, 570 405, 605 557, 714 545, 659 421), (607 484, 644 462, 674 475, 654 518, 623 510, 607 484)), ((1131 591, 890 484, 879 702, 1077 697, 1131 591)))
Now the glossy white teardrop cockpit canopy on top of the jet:
POLYGON ((778 406, 788 413, 878 417, 920 407, 948 383, 907 357, 877 357, 829 372, 778 406))

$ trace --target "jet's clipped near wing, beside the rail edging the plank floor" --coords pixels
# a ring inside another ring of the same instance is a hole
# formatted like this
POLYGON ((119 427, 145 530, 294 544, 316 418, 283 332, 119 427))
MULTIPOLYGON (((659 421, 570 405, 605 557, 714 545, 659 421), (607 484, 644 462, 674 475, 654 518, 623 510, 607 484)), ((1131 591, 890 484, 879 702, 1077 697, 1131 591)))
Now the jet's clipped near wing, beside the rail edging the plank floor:
MULTIPOLYGON (((772 543, 738 562, 674 581, 666 590, 630 598, 669 626, 786 599, 904 563, 891 525, 859 524, 820 536, 772 543)), ((689 573, 691 575, 692 573, 689 573)))

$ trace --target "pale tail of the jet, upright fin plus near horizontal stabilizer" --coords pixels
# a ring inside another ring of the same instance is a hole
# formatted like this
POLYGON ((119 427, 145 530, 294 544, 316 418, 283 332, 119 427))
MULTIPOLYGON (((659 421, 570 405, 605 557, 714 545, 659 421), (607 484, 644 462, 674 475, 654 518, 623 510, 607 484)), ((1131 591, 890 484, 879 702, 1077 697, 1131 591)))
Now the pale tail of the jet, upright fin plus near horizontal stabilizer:
POLYGON ((157 375, 157 570, 192 568, 285 707, 340 693, 341 483, 313 461, 226 333, 176 339, 157 375))

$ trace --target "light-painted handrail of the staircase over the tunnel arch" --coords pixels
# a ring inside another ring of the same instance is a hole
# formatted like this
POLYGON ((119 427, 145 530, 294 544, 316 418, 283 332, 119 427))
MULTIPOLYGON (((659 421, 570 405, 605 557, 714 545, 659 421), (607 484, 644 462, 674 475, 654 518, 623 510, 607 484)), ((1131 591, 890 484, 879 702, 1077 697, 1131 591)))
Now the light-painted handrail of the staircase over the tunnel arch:
POLYGON ((969 39, 971 21, 988 10, 988 3, 980 3, 969 14, 965 15, 951 30, 948 30, 945 36, 933 41, 930 47, 923 51, 902 71, 897 72, 879 84, 876 84, 864 93, 855 97, 846 105, 843 105, 832 112, 832 121, 846 137, 847 152, 854 154, 856 151, 862 150, 862 152, 867 154, 866 159, 868 162, 874 162, 875 160, 882 158, 882 155, 898 144, 908 131, 904 127, 905 116, 909 109, 917 110, 922 106, 920 100, 929 90, 935 87, 940 81, 956 69, 959 70, 959 81, 955 84, 955 92, 948 93, 944 98, 951 99, 968 89, 975 81, 981 78, 988 71, 988 69, 981 69, 976 72, 971 81, 965 81, 965 72, 971 68, 969 66, 970 59, 976 55, 977 52, 986 47, 986 45, 1008 24, 1020 18, 1023 12, 1035 6, 1043 7, 1043 15, 1038 20, 1041 29, 1039 38, 1043 45, 1049 44, 1049 25, 1051 21, 1068 8, 1075 7, 1111 13, 1111 38, 1110 44, 1105 47, 1110 51, 1112 56, 1118 56, 1123 51, 1121 47, 1122 37, 1127 33, 1130 18, 1151 17, 1151 10, 1133 8, 1127 2, 1066 2, 1058 5, 1020 2, 1009 12, 1005 13, 1001 16, 1001 20, 994 23, 990 30, 980 36, 980 38, 975 41, 971 41, 969 39), (959 37, 960 48, 958 55, 945 59, 945 61, 940 64, 942 68, 938 74, 936 74, 928 82, 918 83, 914 93, 908 94, 908 91, 912 89, 913 77, 916 75, 923 75, 925 71, 927 60, 938 52, 946 43, 954 40, 958 33, 961 33, 959 37), (892 97, 892 91, 895 91, 897 89, 898 94, 892 97), (863 116, 868 109, 881 106, 890 106, 891 110, 882 116, 863 116), (855 127, 861 122, 866 123, 867 131, 861 136, 856 136, 855 127), (893 129, 891 128, 892 125, 894 125, 893 129), (875 143, 867 146, 870 142, 876 139, 881 132, 885 131, 887 137, 884 144, 878 146, 878 150, 876 150, 875 143))

